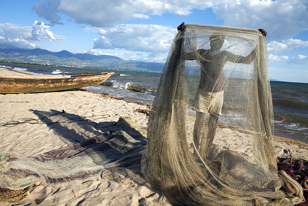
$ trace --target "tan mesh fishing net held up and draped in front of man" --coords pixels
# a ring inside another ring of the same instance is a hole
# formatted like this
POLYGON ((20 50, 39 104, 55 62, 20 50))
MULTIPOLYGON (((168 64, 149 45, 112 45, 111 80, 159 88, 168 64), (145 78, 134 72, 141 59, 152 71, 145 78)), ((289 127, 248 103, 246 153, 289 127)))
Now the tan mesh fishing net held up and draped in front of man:
POLYGON ((175 36, 148 123, 148 183, 176 205, 296 204, 277 170, 260 31, 188 24, 175 36))

